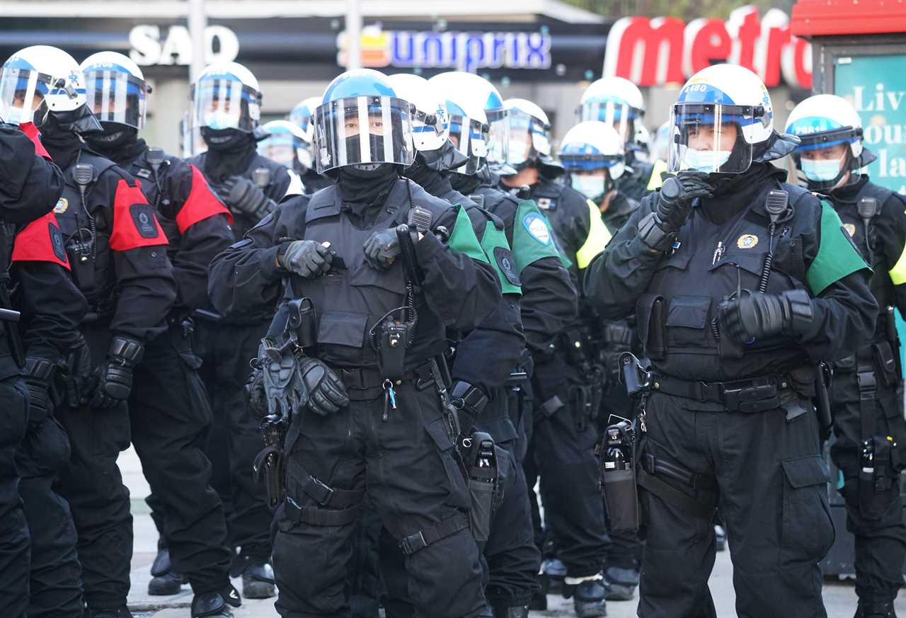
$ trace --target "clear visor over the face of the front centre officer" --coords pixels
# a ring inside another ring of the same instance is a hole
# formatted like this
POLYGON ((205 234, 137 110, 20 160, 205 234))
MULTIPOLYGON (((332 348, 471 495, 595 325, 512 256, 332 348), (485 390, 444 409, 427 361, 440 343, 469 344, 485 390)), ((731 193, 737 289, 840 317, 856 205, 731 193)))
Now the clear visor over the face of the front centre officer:
POLYGON ((415 160, 410 104, 395 97, 328 101, 314 112, 318 173, 348 165, 415 160))

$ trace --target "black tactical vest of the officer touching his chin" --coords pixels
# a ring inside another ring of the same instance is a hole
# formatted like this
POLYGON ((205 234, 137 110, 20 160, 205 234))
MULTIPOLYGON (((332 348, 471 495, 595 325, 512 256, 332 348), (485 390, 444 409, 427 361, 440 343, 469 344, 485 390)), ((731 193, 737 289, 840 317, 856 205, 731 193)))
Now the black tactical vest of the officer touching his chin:
MULTIPOLYGON (((796 219, 808 217, 808 211, 814 215, 814 208, 795 208, 804 189, 781 187, 790 193, 794 215, 777 226, 766 294, 806 289, 803 239, 796 236, 804 228, 802 219, 798 226, 796 219)), ((770 245, 770 219, 762 205, 767 191, 776 188, 776 183, 766 183, 749 207, 722 225, 708 222, 693 208, 679 230, 675 250, 661 259, 636 304, 644 353, 659 372, 685 380, 728 381, 783 373, 806 362, 806 353, 788 338, 749 343, 737 359, 722 358, 718 351, 719 304, 737 290, 758 290, 770 245)))

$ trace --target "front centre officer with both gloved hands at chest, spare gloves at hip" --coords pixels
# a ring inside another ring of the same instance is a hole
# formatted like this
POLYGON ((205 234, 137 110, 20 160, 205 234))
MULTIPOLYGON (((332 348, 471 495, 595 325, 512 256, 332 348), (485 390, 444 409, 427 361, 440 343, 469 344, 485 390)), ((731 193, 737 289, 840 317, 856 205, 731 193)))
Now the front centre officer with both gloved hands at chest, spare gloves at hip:
POLYGON ((442 354, 447 327, 470 330, 497 306, 496 275, 465 210, 400 178, 410 104, 381 73, 342 73, 315 125, 318 169, 336 185, 285 201, 211 265, 225 314, 273 304, 289 285, 260 363, 272 416, 292 415, 277 611, 348 611, 349 537, 367 492, 407 556, 417 613, 472 618, 485 599, 442 354), (407 222, 409 237, 397 229, 407 222), (289 384, 277 383, 281 363, 289 384))

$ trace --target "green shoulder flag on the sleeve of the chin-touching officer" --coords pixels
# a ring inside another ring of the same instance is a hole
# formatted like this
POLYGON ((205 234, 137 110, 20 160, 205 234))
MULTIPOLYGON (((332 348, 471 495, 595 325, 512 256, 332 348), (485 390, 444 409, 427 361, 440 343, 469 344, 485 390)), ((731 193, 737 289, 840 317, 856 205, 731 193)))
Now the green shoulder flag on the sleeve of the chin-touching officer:
POLYGON ((871 267, 865 264, 853 239, 843 228, 843 221, 837 211, 826 200, 821 200, 821 245, 814 256, 812 266, 805 273, 805 282, 812 294, 817 296, 824 288, 846 275, 871 267))

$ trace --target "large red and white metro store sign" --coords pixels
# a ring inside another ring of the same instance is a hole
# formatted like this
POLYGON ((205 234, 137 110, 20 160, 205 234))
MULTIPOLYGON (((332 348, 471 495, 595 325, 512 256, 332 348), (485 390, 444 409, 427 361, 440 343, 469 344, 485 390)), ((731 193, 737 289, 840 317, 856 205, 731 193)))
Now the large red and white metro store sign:
POLYGON ((741 64, 766 86, 781 77, 791 86, 812 87, 812 45, 790 34, 789 16, 770 9, 763 18, 747 5, 724 22, 676 17, 623 17, 607 35, 604 75, 624 77, 640 86, 685 82, 714 63, 741 64))

